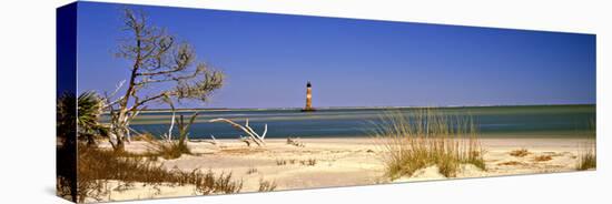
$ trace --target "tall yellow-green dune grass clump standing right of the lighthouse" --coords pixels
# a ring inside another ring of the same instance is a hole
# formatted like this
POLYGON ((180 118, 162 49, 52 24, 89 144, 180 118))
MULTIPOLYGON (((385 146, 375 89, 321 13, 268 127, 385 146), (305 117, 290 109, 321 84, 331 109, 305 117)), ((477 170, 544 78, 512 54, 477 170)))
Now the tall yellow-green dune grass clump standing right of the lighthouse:
POLYGON ((437 165, 446 177, 455 177, 461 164, 486 169, 484 150, 471 119, 423 109, 409 116, 389 112, 382 120, 374 136, 384 149, 382 159, 392 180, 411 176, 431 165, 437 165))

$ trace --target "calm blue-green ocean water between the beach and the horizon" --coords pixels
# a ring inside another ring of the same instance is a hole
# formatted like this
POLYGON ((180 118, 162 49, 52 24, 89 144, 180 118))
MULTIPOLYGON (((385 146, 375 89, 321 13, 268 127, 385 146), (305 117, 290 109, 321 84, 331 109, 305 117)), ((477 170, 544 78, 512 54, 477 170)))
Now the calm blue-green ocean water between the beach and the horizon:
MULTIPOLYGON (((530 105, 530 106, 467 106, 436 108, 451 118, 472 119, 482 137, 585 137, 592 136, 590 123, 595 121, 595 105, 530 105)), ((236 139, 245 135, 228 123, 210 123, 210 119, 226 118, 249 125, 261 133, 268 125, 267 137, 347 137, 369 136, 383 115, 399 113, 414 115, 417 108, 394 109, 322 109, 316 112, 299 110, 201 110, 190 128, 191 139, 236 139)), ((194 111, 182 111, 185 120, 194 111)), ((138 132, 160 135, 167 132, 171 113, 145 112, 135 119, 131 128, 138 132)))

